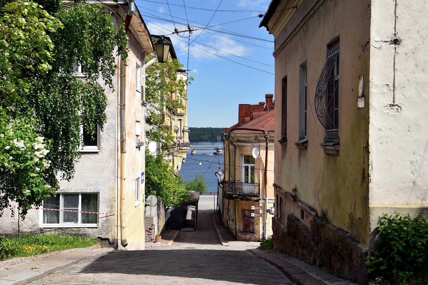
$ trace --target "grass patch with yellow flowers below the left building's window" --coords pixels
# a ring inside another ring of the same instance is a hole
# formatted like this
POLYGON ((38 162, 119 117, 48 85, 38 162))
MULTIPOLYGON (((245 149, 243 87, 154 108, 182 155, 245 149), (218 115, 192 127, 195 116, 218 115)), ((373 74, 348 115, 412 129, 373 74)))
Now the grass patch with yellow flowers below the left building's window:
POLYGON ((34 256, 57 250, 90 247, 96 244, 95 238, 81 235, 29 234, 20 238, 6 238, 0 248, 0 260, 15 257, 34 256))

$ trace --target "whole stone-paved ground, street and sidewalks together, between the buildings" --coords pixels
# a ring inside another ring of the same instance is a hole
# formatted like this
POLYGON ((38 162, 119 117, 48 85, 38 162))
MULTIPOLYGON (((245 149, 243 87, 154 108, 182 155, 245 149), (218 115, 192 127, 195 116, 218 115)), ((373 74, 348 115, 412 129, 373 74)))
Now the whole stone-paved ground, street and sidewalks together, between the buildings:
POLYGON ((0 261, 0 285, 354 284, 284 254, 258 250, 259 242, 235 241, 217 212, 201 217, 202 235, 208 236, 202 244, 194 240, 200 233, 169 230, 161 244, 147 244, 141 251, 94 247, 0 261))

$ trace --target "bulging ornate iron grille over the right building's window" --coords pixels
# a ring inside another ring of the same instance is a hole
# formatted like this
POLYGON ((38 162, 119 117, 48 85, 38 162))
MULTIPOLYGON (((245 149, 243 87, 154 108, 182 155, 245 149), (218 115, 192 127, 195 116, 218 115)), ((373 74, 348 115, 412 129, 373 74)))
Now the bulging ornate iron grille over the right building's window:
POLYGON ((339 141, 339 107, 337 103, 339 77, 334 74, 338 57, 339 40, 328 47, 327 61, 315 89, 315 113, 321 125, 327 130, 327 141, 339 141))

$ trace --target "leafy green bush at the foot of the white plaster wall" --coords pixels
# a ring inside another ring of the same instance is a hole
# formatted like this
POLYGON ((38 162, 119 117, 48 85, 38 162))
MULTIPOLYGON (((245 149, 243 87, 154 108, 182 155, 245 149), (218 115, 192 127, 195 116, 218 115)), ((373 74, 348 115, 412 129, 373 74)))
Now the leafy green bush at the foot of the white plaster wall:
POLYGON ((377 248, 366 261, 371 279, 394 284, 428 282, 428 218, 384 214, 377 229, 377 248))

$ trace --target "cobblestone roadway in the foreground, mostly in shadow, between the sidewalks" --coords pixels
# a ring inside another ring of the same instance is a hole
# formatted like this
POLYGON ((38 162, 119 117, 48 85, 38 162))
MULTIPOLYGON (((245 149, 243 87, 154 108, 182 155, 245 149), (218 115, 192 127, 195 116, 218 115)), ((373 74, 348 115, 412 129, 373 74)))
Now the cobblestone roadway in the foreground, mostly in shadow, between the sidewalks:
POLYGON ((276 267, 233 247, 119 251, 82 261, 33 285, 293 284, 276 267), (202 249, 207 248, 207 249, 202 249))

